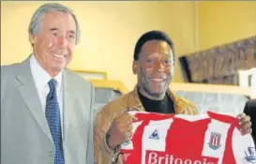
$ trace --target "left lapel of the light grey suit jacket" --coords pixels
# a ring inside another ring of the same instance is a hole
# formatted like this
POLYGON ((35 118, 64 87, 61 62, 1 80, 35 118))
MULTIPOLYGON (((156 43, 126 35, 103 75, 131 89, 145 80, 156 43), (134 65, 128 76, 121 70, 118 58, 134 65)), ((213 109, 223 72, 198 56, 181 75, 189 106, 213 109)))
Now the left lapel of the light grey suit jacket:
POLYGON ((23 97, 28 109, 34 115, 39 127, 45 135, 53 142, 41 102, 38 97, 38 91, 32 77, 29 59, 21 64, 20 73, 17 75, 17 81, 21 82, 19 86, 20 94, 23 97))

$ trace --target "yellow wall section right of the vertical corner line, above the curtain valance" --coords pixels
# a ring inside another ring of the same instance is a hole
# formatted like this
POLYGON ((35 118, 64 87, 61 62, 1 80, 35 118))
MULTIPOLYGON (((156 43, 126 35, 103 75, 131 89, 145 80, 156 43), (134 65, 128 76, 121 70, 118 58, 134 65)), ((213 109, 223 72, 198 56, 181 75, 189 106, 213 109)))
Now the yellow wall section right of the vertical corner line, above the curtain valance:
POLYGON ((199 2, 199 49, 256 36, 256 2, 199 2))

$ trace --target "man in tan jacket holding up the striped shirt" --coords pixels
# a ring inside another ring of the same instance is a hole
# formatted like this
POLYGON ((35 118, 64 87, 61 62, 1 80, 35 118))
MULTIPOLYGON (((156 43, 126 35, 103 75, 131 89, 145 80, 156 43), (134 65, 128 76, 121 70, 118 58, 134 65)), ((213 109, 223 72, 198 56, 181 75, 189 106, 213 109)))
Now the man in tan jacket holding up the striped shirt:
MULTIPOLYGON (((133 73, 138 83, 134 90, 107 104, 98 112, 94 127, 95 163, 122 163, 120 144, 132 136, 129 110, 159 113, 198 114, 193 103, 177 97, 169 88, 174 72, 173 41, 165 33, 150 31, 135 46, 133 73)), ((240 114, 244 133, 251 132, 250 118, 240 114)))

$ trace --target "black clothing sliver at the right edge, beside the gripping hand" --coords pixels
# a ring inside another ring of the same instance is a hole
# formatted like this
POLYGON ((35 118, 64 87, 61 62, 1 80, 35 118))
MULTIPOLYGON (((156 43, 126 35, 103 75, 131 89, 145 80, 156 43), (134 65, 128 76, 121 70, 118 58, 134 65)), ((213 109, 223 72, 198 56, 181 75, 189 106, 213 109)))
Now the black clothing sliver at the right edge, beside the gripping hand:
POLYGON ((252 137, 254 143, 256 144, 256 99, 248 100, 246 103, 244 112, 250 116, 251 127, 252 127, 252 137))

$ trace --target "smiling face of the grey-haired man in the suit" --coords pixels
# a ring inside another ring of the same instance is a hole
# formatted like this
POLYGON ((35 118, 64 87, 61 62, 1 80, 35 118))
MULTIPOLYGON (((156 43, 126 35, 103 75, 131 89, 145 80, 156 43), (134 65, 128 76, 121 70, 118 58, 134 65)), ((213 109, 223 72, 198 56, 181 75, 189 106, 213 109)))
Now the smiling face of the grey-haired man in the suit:
POLYGON ((76 41, 76 23, 68 13, 53 11, 41 19, 37 34, 29 36, 34 44, 38 63, 50 75, 55 76, 72 59, 76 41))

